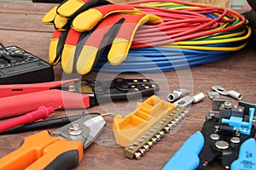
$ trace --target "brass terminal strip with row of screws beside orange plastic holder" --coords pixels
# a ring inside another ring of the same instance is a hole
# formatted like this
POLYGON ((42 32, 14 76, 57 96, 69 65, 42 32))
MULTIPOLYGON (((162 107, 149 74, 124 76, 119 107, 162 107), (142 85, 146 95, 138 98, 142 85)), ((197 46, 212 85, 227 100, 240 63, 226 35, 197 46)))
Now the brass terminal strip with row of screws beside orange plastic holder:
POLYGON ((140 159, 145 153, 153 147, 160 139, 162 139, 165 133, 169 133, 173 127, 176 127, 185 116, 187 111, 183 106, 177 105, 170 113, 150 127, 146 133, 143 133, 141 137, 125 147, 124 155, 131 159, 140 159))

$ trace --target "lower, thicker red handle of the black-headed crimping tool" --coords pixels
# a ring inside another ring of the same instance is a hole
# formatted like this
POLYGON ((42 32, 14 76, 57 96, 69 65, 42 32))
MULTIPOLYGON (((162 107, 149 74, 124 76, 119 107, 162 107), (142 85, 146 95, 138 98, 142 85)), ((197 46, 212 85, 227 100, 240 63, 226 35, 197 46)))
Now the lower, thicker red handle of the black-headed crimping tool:
POLYGON ((90 107, 90 97, 87 94, 53 89, 0 98, 0 104, 0 118, 5 118, 36 111, 42 105, 60 109, 87 108, 90 107))

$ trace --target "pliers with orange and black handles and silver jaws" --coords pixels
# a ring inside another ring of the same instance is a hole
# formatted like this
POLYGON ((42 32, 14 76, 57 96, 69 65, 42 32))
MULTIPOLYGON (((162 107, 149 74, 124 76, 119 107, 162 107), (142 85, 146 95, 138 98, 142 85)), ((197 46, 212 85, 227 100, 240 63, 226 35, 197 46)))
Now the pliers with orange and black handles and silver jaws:
POLYGON ((44 130, 26 137, 20 148, 0 159, 0 169, 70 169, 82 161, 86 149, 100 134, 105 121, 92 114, 53 133, 44 130))

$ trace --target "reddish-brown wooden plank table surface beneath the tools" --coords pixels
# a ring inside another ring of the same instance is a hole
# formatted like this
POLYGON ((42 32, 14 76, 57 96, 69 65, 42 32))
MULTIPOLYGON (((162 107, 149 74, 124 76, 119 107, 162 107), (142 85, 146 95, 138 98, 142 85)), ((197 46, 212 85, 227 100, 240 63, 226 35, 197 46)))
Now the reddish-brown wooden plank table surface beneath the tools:
MULTIPOLYGON (((36 56, 47 60, 49 38, 54 31, 52 26, 45 26, 41 20, 46 12, 55 4, 42 3, 6 3, 0 2, 0 41, 6 46, 16 45, 36 56)), ((221 85, 226 89, 234 89, 243 95, 243 99, 256 102, 256 52, 251 45, 228 58, 207 65, 198 65, 182 71, 169 71, 154 74, 120 74, 119 77, 154 79, 160 85, 157 94, 166 99, 167 94, 176 88, 189 88, 193 94, 203 92, 206 98, 192 105, 189 116, 177 131, 166 134, 158 144, 149 150, 139 161, 123 156, 123 148, 115 144, 112 132, 113 116, 105 116, 106 128, 96 143, 84 151, 84 159, 75 169, 160 169, 163 167, 183 142, 195 131, 201 130, 205 115, 211 110, 212 100, 207 92, 212 91, 213 85, 221 85)), ((60 66, 55 66, 55 79, 63 76, 60 66)), ((84 79, 96 79, 98 74, 93 72, 84 79)), ((107 77, 114 77, 107 74, 107 77)), ((236 100, 233 100, 237 104, 236 100)), ((87 109, 88 112, 113 112, 114 115, 127 115, 133 111, 137 101, 114 102, 87 109)), ((10 108, 11 109, 11 108, 10 108)), ((56 111, 50 118, 79 114, 84 110, 56 111)), ((53 129, 49 129, 52 131, 53 129)), ((19 147, 20 141, 35 132, 17 133, 0 136, 0 157, 19 147)), ((184 163, 186 158, 184 157, 184 163)), ((218 163, 212 169, 220 169, 218 163)))

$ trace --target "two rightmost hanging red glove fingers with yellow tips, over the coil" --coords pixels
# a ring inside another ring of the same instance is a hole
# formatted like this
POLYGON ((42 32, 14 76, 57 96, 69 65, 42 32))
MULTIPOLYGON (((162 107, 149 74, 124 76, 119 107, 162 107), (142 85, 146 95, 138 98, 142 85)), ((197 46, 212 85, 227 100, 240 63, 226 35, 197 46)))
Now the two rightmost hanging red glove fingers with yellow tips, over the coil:
POLYGON ((89 73, 111 43, 108 60, 113 65, 119 65, 129 52, 137 27, 147 22, 155 24, 162 20, 153 14, 113 14, 102 20, 94 31, 90 31, 91 35, 87 37, 84 46, 80 45, 83 47, 75 57, 78 73, 89 73))

